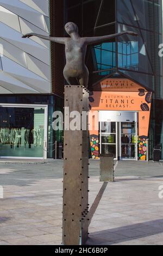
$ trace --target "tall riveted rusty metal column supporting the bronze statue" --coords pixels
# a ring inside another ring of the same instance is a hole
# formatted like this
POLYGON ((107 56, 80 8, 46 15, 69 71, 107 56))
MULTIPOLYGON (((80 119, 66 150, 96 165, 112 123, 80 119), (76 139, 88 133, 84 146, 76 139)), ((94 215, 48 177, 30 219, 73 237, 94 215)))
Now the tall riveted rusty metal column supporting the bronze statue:
MULTIPOLYGON (((89 92, 83 86, 65 86, 65 107, 70 113, 89 110, 89 92)), ((71 123, 72 118, 69 117, 71 123)), ((84 245, 88 222, 89 133, 64 131, 63 245, 84 245)))

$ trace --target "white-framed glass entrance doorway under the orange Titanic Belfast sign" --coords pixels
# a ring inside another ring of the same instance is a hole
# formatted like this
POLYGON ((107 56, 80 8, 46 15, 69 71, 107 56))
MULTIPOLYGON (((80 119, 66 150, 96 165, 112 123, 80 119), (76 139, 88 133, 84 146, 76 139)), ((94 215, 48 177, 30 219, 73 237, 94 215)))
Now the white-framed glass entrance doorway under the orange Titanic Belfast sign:
POLYGON ((101 154, 117 160, 138 159, 138 115, 132 111, 99 111, 101 154))

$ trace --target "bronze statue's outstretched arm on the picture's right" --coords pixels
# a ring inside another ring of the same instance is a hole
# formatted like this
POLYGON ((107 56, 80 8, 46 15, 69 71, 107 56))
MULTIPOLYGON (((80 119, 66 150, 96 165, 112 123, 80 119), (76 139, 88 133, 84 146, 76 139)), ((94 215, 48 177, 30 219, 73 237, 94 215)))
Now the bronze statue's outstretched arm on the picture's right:
POLYGON ((112 35, 93 36, 90 38, 85 38, 85 41, 86 41, 87 45, 96 44, 96 43, 103 42, 103 41, 106 41, 106 40, 109 40, 112 38, 116 38, 117 36, 124 35, 124 34, 137 36, 137 34, 132 31, 123 31, 121 33, 116 33, 116 34, 112 34, 112 35))

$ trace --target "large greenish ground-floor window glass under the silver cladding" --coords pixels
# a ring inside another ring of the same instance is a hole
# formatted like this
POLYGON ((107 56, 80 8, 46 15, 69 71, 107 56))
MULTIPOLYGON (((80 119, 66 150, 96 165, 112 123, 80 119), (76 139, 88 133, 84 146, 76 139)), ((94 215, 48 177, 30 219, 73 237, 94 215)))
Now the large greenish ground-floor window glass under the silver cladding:
POLYGON ((45 108, 0 107, 0 156, 43 157, 45 108))

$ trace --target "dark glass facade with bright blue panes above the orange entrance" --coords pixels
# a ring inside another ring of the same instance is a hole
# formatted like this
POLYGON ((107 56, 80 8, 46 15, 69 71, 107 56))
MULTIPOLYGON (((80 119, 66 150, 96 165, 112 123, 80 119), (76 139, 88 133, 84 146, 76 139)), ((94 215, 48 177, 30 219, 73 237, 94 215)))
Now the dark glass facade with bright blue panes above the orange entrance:
POLYGON ((77 2, 65 0, 65 2, 68 7, 65 12, 65 21, 74 19, 80 22, 82 36, 102 36, 127 30, 138 34, 137 37, 123 35, 103 42, 101 45, 89 46, 86 65, 90 71, 91 90, 94 84, 108 76, 126 77, 153 90, 149 131, 150 140, 152 139, 150 144, 152 156, 154 145, 162 143, 160 127, 162 127, 163 118, 160 115, 160 106, 163 98, 163 58, 159 57, 158 47, 162 44, 163 2, 161 0, 81 0, 77 2), (80 7, 80 13, 79 10, 76 11, 77 6, 80 7), (70 9, 67 16, 67 11, 70 9))

